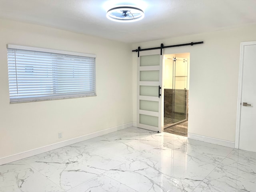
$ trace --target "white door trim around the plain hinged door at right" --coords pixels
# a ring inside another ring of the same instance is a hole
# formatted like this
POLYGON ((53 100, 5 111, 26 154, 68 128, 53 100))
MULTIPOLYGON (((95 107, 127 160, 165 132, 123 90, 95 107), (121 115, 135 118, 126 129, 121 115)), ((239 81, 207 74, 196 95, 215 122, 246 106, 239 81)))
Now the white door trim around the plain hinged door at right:
POLYGON ((239 148, 240 139, 240 120, 241 120, 241 103, 242 103, 242 84, 244 72, 244 48, 248 45, 256 45, 256 41, 241 42, 240 44, 240 62, 239 62, 239 75, 238 75, 238 99, 236 110, 236 140, 235 148, 239 148))

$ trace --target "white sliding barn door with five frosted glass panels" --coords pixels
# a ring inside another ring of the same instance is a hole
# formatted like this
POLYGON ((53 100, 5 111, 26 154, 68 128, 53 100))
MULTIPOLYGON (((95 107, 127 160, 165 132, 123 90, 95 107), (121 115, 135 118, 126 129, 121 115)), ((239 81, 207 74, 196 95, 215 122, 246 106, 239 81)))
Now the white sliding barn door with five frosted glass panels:
POLYGON ((160 50, 140 52, 138 57, 137 127, 163 131, 162 60, 160 50))

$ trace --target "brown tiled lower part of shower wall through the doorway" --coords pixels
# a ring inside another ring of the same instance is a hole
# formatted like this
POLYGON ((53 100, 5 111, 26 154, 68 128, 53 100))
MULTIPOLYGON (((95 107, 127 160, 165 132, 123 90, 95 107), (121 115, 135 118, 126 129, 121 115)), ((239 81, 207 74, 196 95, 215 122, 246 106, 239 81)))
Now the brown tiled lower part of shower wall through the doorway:
MULTIPOLYGON (((164 117, 172 118, 173 89, 164 89, 164 117)), ((175 90, 174 112, 187 117, 188 90, 175 90)))

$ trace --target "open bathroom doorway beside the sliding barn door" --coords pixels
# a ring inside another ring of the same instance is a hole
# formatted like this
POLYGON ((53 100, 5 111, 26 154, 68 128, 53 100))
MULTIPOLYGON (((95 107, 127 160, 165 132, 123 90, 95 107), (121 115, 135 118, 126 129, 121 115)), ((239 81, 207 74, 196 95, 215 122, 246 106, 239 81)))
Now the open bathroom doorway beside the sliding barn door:
POLYGON ((164 132, 188 136, 190 53, 164 55, 164 132))

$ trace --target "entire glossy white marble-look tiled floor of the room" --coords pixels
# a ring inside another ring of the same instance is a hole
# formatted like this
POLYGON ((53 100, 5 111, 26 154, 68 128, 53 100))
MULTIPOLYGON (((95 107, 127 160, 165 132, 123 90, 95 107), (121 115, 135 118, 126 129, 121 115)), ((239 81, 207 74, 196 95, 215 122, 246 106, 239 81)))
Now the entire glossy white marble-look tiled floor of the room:
POLYGON ((256 153, 136 127, 0 166, 0 192, 256 192, 256 153))

